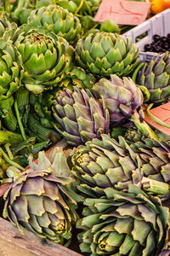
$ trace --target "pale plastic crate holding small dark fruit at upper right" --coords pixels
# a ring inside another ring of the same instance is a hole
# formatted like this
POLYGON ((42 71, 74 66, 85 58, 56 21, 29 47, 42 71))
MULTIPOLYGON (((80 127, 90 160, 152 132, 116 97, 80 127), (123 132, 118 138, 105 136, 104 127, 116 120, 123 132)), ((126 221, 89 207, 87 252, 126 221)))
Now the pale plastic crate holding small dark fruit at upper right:
POLYGON ((167 36, 170 33, 170 9, 166 9, 159 15, 155 15, 149 20, 144 21, 139 26, 123 34, 123 37, 131 38, 133 44, 136 44, 141 51, 144 50, 144 44, 152 42, 153 35, 167 36), (136 42, 136 38, 146 33, 146 36, 136 42))

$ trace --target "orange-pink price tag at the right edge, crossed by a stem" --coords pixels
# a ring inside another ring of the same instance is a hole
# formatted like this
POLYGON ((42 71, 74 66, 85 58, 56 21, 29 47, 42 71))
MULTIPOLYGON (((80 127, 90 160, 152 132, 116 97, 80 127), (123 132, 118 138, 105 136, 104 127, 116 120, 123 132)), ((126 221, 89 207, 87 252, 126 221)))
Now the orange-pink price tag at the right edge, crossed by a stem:
MULTIPOLYGON (((157 108, 150 109, 150 113, 156 116, 156 118, 161 119, 165 124, 170 125, 170 102, 163 104, 157 108)), ((144 113, 144 119, 147 123, 154 126, 159 131, 162 131, 170 136, 170 129, 167 127, 158 125, 155 121, 150 119, 146 113, 144 113)))

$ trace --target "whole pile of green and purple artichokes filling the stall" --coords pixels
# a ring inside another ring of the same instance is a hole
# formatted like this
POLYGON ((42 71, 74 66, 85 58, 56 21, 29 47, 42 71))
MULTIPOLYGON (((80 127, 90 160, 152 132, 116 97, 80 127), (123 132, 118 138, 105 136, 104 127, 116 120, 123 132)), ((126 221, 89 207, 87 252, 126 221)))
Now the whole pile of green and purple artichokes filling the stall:
POLYGON ((100 0, 3 2, 3 218, 70 248, 76 230, 86 255, 169 255, 170 137, 144 111, 168 102, 170 54, 140 63, 100 0))

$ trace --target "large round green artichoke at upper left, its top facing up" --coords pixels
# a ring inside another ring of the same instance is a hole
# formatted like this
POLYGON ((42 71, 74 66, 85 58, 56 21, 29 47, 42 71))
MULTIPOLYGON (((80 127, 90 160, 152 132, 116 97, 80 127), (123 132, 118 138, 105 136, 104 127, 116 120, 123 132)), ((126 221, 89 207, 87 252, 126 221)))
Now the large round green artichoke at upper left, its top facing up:
POLYGON ((40 93, 59 83, 71 67, 74 49, 65 38, 46 35, 41 28, 25 29, 26 26, 20 27, 12 39, 25 67, 22 83, 28 90, 40 93))

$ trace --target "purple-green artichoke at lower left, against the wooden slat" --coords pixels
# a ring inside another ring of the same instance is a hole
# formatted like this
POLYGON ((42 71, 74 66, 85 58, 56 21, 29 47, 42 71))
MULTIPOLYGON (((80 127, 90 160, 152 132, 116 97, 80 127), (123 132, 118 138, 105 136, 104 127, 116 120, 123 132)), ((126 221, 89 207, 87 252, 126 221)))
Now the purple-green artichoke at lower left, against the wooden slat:
POLYGON ((37 165, 30 157, 30 168, 19 177, 14 174, 14 183, 4 194, 3 218, 8 218, 21 233, 27 229, 63 244, 71 239, 71 224, 77 220, 77 202, 69 186, 73 179, 65 155, 61 148, 54 148, 48 158, 39 152, 37 165))

